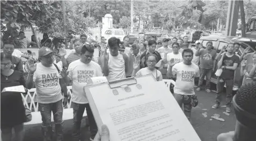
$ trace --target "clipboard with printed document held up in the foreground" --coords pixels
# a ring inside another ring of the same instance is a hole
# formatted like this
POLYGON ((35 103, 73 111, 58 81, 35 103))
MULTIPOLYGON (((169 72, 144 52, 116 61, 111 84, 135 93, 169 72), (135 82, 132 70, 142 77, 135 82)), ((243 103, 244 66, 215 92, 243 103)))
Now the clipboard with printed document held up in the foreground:
POLYGON ((124 82, 84 87, 97 126, 107 125, 111 141, 201 141, 163 81, 147 75, 124 82))

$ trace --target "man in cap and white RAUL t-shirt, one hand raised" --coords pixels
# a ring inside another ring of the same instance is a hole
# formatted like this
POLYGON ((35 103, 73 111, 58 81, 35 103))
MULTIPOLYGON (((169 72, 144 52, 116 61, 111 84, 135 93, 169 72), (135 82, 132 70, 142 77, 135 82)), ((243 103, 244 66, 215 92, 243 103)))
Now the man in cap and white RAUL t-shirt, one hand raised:
POLYGON ((52 121, 51 115, 53 112, 56 140, 63 140, 63 107, 67 104, 68 93, 67 85, 65 84, 60 70, 62 68, 53 64, 54 52, 47 47, 42 47, 39 51, 40 63, 34 64, 33 60, 28 62, 28 73, 26 86, 27 89, 36 88, 38 109, 42 116, 42 134, 43 140, 52 140, 52 121), (64 100, 62 104, 62 92, 64 100))

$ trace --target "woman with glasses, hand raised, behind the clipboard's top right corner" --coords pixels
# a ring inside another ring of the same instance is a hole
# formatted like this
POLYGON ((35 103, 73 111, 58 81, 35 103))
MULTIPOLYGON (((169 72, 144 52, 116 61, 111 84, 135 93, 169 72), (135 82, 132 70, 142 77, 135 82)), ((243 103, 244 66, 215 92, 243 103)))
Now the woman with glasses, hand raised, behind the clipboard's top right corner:
POLYGON ((162 76, 161 72, 155 68, 155 66, 157 64, 157 56, 155 54, 149 54, 146 57, 146 61, 147 61, 148 66, 138 70, 138 72, 136 73, 136 69, 140 66, 140 61, 136 60, 133 65, 133 74, 131 74, 131 76, 137 77, 137 76, 152 74, 157 81, 162 81, 163 76, 162 76))

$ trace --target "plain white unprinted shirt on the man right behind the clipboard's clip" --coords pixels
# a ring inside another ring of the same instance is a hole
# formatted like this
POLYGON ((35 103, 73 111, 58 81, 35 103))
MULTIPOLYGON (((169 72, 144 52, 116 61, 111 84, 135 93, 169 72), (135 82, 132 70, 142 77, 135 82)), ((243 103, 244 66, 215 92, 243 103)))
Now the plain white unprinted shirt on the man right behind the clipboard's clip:
POLYGON ((109 73, 107 76, 108 81, 120 80, 126 78, 125 60, 121 53, 118 56, 112 56, 110 53, 108 60, 109 73))

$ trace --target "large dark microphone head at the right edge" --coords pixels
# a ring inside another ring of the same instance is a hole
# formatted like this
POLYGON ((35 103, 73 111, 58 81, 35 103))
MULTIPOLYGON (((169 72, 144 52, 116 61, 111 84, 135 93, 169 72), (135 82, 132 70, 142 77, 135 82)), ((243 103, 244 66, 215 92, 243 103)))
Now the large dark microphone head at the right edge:
POLYGON ((256 129, 256 83, 242 86, 233 97, 237 121, 245 127, 256 129))

